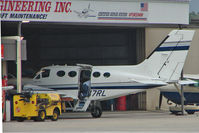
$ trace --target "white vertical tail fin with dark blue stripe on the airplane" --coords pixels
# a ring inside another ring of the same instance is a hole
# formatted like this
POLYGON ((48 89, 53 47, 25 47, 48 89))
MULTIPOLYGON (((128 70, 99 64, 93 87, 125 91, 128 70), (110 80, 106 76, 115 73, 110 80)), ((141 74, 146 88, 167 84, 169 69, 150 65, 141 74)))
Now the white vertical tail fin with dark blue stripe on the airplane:
POLYGON ((165 82, 179 80, 194 30, 173 30, 145 60, 148 74, 165 82))

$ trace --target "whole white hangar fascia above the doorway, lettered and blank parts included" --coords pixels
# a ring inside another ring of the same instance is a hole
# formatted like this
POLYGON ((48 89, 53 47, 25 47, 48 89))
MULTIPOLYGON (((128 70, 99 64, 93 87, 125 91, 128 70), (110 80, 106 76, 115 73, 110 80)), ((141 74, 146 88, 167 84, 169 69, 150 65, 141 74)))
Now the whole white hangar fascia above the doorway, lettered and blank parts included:
MULTIPOLYGON (((189 0, 0 1, 3 21, 188 24, 189 0), (43 6, 43 7, 42 7, 43 6), (41 8, 42 7, 42 8, 41 8)), ((81 24, 80 24, 81 25, 81 24)))

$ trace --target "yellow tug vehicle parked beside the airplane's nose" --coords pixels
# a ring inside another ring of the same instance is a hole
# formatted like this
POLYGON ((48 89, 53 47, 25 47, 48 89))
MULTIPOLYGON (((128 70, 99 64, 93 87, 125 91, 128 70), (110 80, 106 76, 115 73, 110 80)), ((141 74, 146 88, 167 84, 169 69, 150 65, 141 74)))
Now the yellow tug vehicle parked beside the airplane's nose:
POLYGON ((25 92, 13 97, 14 117, 17 121, 24 120, 44 121, 50 118, 58 120, 61 115, 61 99, 59 94, 31 94, 25 92))

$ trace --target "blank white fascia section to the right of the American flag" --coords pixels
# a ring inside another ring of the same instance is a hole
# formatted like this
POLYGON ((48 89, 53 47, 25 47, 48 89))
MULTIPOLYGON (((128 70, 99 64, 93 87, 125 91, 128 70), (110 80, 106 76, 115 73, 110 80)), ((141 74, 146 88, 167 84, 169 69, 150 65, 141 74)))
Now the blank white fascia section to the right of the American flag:
POLYGON ((185 16, 189 16, 189 4, 187 3, 149 3, 149 23, 188 24, 189 17, 185 16))

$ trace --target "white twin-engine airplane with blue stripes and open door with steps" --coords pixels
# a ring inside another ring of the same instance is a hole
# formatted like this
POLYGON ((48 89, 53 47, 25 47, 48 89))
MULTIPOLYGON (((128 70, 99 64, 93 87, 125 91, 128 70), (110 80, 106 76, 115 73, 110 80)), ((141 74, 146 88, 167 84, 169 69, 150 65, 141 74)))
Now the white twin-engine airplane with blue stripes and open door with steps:
MULTIPOLYGON (((91 101, 178 83, 193 35, 193 30, 171 31, 152 54, 138 65, 44 67, 34 77, 32 84, 57 90, 76 101, 74 111, 86 111, 93 103, 91 101)), ((100 107, 92 105, 92 116, 100 117, 100 107)))

